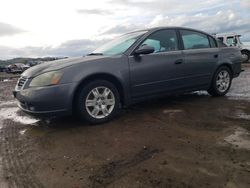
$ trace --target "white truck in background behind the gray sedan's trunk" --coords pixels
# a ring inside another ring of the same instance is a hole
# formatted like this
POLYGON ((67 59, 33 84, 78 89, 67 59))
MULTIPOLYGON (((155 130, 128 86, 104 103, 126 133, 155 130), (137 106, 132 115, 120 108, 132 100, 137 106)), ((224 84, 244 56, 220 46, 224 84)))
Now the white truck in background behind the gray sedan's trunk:
POLYGON ((225 33, 225 34, 216 34, 215 37, 219 40, 221 40, 224 44, 227 46, 236 46, 240 48, 241 53, 244 57, 244 63, 249 62, 250 60, 250 46, 244 45, 240 37, 241 35, 238 35, 236 33, 225 33))

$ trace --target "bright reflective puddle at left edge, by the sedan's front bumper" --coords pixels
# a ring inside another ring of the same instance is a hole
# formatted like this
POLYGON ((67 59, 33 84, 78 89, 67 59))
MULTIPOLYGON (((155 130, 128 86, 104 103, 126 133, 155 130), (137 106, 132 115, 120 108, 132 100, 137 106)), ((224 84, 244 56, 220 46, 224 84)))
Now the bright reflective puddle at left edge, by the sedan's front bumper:
MULTIPOLYGON (((21 123, 21 124, 34 124, 39 120, 28 117, 28 116, 21 116, 18 114, 19 108, 18 107, 9 107, 9 108, 1 108, 0 109, 0 120, 10 119, 14 122, 21 123)), ((0 128, 1 128, 0 124, 0 128)))

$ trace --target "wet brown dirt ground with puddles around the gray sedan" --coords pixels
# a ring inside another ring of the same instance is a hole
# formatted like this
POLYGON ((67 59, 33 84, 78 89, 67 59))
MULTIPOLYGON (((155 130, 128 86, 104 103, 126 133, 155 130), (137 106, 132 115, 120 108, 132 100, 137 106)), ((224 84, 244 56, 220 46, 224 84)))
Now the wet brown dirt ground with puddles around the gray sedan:
POLYGON ((0 82, 0 187, 250 187, 250 66, 227 96, 143 102, 90 126, 20 112, 0 82))

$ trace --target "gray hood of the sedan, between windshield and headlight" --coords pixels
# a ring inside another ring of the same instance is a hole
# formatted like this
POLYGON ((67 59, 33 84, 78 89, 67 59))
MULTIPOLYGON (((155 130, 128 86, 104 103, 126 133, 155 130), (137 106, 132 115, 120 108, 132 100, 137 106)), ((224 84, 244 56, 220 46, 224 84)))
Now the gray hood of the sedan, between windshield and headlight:
POLYGON ((75 64, 92 62, 104 58, 107 58, 107 56, 84 56, 44 62, 27 69, 25 72, 23 72, 22 76, 27 78, 35 77, 44 72, 59 70, 75 64))

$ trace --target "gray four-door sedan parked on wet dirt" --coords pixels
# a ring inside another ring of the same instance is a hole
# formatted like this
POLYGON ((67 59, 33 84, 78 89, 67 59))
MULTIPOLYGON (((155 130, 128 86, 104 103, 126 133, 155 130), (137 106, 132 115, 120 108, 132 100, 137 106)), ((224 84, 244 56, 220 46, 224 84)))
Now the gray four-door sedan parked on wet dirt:
POLYGON ((77 114, 90 123, 123 106, 169 94, 207 90, 225 95, 241 72, 238 48, 182 27, 131 32, 85 57, 46 62, 25 71, 14 96, 32 115, 77 114))

